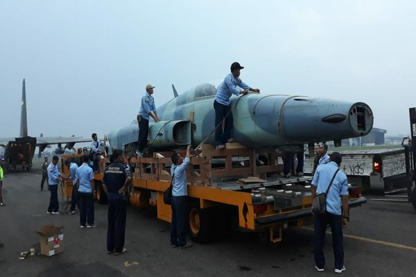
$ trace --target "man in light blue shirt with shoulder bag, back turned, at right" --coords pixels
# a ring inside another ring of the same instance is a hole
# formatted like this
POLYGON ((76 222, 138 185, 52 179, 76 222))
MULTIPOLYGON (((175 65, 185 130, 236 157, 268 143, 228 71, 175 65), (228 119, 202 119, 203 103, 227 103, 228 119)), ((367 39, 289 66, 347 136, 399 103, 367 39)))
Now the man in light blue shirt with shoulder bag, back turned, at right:
POLYGON ((343 157, 333 152, 329 163, 322 164, 313 175, 311 197, 326 193, 326 212, 315 214, 314 224, 314 253, 315 269, 324 271, 325 257, 322 248, 325 242, 327 224, 331 225, 333 240, 333 256, 335 258, 335 272, 342 273, 344 267, 343 227, 349 220, 348 213, 348 180, 347 175, 338 170, 343 157), (341 210, 342 206, 342 210, 341 210))

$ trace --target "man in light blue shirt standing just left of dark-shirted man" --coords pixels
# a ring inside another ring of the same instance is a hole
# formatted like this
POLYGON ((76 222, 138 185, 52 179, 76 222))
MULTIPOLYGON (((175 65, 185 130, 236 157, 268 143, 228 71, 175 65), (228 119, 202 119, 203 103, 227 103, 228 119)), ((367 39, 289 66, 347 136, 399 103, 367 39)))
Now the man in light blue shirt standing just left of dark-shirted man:
POLYGON ((94 228, 94 174, 88 166, 88 155, 83 156, 83 164, 76 170, 78 181, 78 208, 80 209, 80 227, 94 228))

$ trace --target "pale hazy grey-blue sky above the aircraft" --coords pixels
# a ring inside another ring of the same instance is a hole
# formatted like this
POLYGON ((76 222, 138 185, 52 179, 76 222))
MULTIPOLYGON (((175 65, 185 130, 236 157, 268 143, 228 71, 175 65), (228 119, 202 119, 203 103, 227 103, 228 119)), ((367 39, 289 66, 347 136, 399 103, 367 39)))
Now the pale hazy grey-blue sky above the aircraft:
POLYGON ((366 102, 374 127, 410 133, 416 1, 0 1, 0 136, 128 125, 147 83, 162 105, 239 61, 262 93, 366 102))

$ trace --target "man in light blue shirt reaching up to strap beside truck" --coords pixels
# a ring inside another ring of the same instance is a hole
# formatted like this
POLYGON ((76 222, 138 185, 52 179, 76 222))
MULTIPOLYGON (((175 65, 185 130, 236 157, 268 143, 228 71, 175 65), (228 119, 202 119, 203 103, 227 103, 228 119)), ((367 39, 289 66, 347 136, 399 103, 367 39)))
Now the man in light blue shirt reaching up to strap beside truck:
POLYGON ((171 222, 171 244, 172 247, 180 249, 189 248, 192 244, 187 243, 185 233, 187 231, 187 166, 191 161, 188 145, 185 159, 180 154, 174 153, 171 157, 172 167, 172 222, 171 222))

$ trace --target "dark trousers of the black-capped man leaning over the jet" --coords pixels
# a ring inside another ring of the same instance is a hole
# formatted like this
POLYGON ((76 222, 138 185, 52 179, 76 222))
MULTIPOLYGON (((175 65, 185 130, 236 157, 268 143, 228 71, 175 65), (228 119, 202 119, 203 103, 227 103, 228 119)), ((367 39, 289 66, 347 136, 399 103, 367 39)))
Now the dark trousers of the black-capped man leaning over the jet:
POLYGON ((224 120, 224 129, 220 125, 215 130, 215 145, 225 144, 231 137, 232 130, 232 113, 228 112, 231 107, 220 104, 214 100, 215 109, 215 127, 221 124, 224 120))

